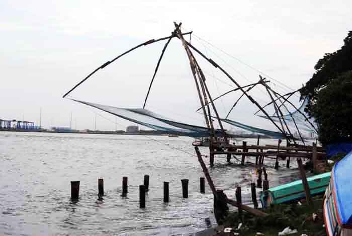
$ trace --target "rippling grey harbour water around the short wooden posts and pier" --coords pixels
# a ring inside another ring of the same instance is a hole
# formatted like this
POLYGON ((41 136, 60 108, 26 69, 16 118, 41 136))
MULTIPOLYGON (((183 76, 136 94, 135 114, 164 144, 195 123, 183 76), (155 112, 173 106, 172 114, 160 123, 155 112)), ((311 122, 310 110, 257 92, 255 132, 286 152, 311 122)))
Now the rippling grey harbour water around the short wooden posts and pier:
MULTIPOLYGON (((203 172, 192 141, 188 137, 0 132, 0 234, 182 235, 210 227, 216 224, 213 196, 207 184, 206 194, 199 193, 203 172), (145 174, 150 175, 149 192, 146 208, 139 209, 138 186, 145 174), (120 196, 123 176, 128 177, 127 198, 120 196), (103 201, 97 200, 98 178, 104 178, 103 201), (188 199, 182 198, 184 178, 190 180, 188 199), (70 181, 75 180, 80 181, 80 199, 72 204, 70 181), (169 182, 168 204, 162 202, 163 181, 169 182)), ((256 139, 246 141, 256 143, 256 139)), ((277 144, 274 139, 260 142, 277 144)), ((209 149, 201 152, 208 154, 209 149)), ((209 172, 216 187, 230 198, 240 184, 242 201, 250 204, 249 173, 255 167, 240 167, 232 161, 233 165, 226 165, 225 157, 216 156, 209 172)), ((275 171, 273 161, 265 164, 270 186, 298 178, 296 168, 275 171)))

